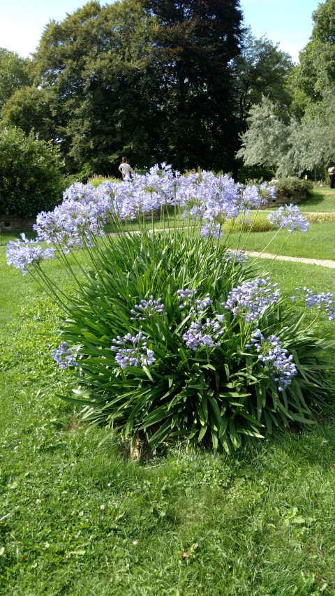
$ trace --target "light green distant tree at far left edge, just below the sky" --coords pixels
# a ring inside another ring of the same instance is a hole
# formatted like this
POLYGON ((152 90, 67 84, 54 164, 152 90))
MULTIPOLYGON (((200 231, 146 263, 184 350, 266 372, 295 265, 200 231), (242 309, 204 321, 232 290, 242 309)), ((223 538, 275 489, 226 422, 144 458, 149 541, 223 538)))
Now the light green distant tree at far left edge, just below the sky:
POLYGON ((29 64, 29 59, 0 48, 0 113, 16 89, 30 84, 29 64))

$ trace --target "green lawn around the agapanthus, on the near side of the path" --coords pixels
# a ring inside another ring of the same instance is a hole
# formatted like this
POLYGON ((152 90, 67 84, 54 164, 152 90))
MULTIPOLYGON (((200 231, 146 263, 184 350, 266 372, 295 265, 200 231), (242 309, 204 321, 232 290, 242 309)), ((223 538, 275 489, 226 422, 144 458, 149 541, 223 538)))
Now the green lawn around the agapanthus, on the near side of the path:
MULTIPOLYGON (((0 593, 334 594, 335 427, 265 439, 232 456, 182 445, 140 462, 85 433, 59 399, 59 312, 0 250, 0 593)), ((45 263, 64 291, 59 262, 45 263)), ((334 272, 260 260, 292 295, 334 291, 334 272), (315 271, 318 275, 315 275, 315 271)), ((334 324, 320 319, 319 333, 334 324)))

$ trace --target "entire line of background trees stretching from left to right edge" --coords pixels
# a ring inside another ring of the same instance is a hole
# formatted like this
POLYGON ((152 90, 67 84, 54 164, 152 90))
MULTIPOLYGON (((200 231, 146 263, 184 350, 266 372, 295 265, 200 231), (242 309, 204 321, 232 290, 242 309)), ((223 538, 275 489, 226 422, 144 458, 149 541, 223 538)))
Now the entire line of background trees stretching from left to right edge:
POLYGON ((334 15, 335 0, 319 4, 295 66, 243 27, 240 0, 91 0, 47 23, 31 60, 0 48, 0 126, 51 141, 82 179, 115 175, 121 155, 140 168, 324 167, 334 15))

